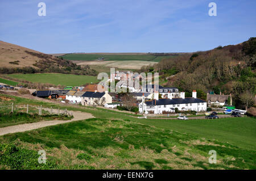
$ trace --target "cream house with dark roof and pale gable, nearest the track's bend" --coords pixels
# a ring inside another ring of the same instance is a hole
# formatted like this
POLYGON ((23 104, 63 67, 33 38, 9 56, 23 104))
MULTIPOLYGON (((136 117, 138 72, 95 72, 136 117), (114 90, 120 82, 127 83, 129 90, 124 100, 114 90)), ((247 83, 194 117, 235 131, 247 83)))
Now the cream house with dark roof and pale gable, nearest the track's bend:
POLYGON ((112 96, 108 94, 108 91, 97 92, 97 91, 86 91, 82 95, 82 106, 104 106, 106 103, 112 103, 112 96))

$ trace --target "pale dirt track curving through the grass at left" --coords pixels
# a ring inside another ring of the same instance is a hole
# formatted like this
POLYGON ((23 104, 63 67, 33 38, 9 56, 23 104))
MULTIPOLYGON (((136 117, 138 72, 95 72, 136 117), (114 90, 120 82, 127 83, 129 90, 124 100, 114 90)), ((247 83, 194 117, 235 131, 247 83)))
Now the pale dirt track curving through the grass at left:
MULTIPOLYGON (((50 111, 49 109, 44 109, 44 110, 50 111)), ((10 127, 4 127, 4 128, 0 128, 0 136, 9 134, 9 133, 25 132, 33 129, 49 127, 56 124, 70 123, 72 121, 84 120, 84 119, 89 119, 94 117, 92 114, 86 113, 86 112, 80 112, 80 111, 68 111, 68 112, 72 113, 72 115, 74 116, 72 120, 40 121, 37 123, 28 123, 28 124, 20 124, 20 125, 14 125, 10 127)), ((57 113, 57 110, 53 110, 53 113, 57 113)))

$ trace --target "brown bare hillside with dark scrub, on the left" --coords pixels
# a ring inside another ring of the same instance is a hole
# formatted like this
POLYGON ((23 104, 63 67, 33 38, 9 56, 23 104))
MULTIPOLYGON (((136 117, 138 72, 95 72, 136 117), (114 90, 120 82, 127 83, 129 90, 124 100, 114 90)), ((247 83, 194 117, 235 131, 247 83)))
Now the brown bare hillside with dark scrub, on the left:
POLYGON ((71 73, 96 74, 89 66, 84 69, 71 61, 63 60, 36 50, 0 41, 0 73, 71 73))

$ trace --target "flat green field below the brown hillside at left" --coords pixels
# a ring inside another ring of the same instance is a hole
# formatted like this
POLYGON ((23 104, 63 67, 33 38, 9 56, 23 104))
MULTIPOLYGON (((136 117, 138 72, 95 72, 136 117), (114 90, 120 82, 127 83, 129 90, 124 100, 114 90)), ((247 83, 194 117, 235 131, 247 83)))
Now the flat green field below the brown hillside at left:
POLYGON ((58 73, 43 73, 43 74, 8 74, 8 77, 18 78, 30 82, 51 83, 53 85, 63 86, 80 86, 85 83, 99 82, 97 77, 89 75, 73 75, 73 74, 58 74, 58 73))

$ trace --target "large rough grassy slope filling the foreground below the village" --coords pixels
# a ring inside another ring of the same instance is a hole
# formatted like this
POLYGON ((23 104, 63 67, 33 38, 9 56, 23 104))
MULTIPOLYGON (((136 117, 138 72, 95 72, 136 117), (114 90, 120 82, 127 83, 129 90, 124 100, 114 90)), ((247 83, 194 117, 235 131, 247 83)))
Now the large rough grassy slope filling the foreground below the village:
MULTIPOLYGON (((60 106, 7 97, 11 98, 8 103, 60 106)), ((47 169, 256 169, 256 124, 252 117, 148 120, 101 108, 61 108, 89 112, 96 118, 7 134, 0 137, 1 144, 16 144, 28 151, 46 150, 47 169), (216 150, 216 164, 209 164, 209 150, 216 150)), ((18 157, 19 151, 15 155, 18 157)), ((27 158, 26 164, 21 162, 19 169, 36 164, 27 158)), ((15 168, 11 163, 0 165, 15 168)))

